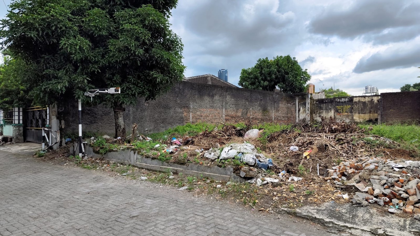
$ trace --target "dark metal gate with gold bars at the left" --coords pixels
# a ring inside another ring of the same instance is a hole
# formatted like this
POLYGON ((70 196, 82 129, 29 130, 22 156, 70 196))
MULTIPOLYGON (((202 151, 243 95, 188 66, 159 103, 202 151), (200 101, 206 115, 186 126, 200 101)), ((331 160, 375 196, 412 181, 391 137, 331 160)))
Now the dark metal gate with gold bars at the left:
POLYGON ((24 141, 42 143, 42 128, 48 127, 49 110, 40 106, 24 110, 24 141))

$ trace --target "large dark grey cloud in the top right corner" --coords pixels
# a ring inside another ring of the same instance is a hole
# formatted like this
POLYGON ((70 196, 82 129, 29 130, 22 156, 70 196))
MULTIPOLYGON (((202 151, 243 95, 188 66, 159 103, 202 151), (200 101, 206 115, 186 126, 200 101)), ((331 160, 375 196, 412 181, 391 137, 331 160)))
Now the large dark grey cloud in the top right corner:
POLYGON ((420 34, 420 2, 359 0, 346 10, 330 6, 315 17, 309 31, 344 39, 360 37, 376 44, 406 41, 420 34))

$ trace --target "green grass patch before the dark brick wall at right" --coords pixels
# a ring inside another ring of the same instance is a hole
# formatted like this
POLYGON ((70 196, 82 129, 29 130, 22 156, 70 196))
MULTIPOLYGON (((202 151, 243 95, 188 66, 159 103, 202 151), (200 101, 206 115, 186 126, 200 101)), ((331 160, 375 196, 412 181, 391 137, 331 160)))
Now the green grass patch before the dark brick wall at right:
MULTIPOLYGON (((368 128, 368 125, 360 125, 363 128, 368 128)), ((378 135, 386 137, 402 144, 405 148, 415 147, 420 149, 420 126, 418 125, 373 125, 373 129, 368 131, 370 135, 378 135)), ((368 140, 367 140, 368 141, 368 140)))

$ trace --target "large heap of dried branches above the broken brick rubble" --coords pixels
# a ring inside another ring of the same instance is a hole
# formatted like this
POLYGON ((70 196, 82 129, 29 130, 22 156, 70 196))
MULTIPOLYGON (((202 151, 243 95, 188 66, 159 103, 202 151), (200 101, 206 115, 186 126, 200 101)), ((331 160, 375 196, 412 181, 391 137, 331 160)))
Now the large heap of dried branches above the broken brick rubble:
POLYGON ((366 135, 354 123, 337 122, 332 117, 320 122, 296 123, 268 136, 272 150, 285 150, 297 146, 299 150, 316 147, 330 156, 375 156, 383 148, 398 148, 398 144, 376 135, 366 135))

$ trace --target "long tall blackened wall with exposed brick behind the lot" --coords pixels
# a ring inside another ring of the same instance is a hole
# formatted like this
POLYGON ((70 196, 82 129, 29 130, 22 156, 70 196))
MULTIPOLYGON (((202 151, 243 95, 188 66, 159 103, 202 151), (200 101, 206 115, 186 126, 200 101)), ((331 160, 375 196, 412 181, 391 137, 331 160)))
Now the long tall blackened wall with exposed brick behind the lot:
MULTIPOLYGON (((154 101, 146 103, 139 98, 136 106, 126 108, 124 121, 128 133, 133 123, 141 133, 160 132, 190 121, 235 123, 251 118, 253 123, 286 124, 295 121, 295 100, 291 94, 181 82, 154 101)), ((77 132, 77 117, 76 101, 59 104, 63 133, 77 132)), ((113 109, 83 106, 82 124, 84 131, 113 135, 113 109)))

